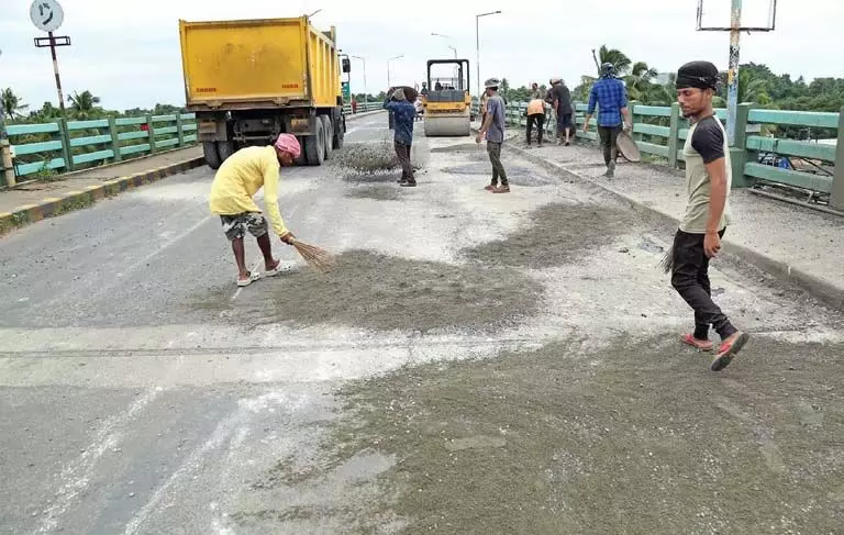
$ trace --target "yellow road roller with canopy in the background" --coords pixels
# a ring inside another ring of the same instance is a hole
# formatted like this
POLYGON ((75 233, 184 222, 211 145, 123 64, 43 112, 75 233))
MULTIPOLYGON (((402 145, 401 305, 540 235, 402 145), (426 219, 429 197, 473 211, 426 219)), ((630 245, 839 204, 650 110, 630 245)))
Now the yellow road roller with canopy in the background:
POLYGON ((427 94, 422 96, 425 136, 457 137, 470 133, 471 97, 468 59, 429 59, 427 94), (452 65, 449 77, 432 77, 433 66, 452 65))

